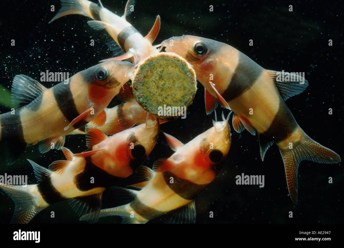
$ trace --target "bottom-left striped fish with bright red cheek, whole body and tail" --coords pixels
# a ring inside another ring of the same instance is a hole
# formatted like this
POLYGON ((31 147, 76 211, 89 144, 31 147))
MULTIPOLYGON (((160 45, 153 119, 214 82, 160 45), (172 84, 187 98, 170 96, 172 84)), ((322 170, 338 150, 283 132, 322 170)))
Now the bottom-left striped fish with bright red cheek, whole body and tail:
MULTIPOLYGON (((111 186, 126 186, 129 177, 147 158, 157 142, 159 122, 127 129, 111 137, 96 128, 86 129, 87 145, 92 148, 72 154, 62 148, 67 160, 53 162, 49 169, 30 161, 38 184, 0 187, 15 202, 12 223, 28 223, 43 208, 64 200, 80 215, 89 213, 97 221, 102 193, 111 186)), ((144 171, 144 170, 143 170, 144 171)))

